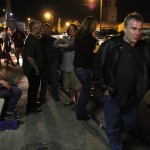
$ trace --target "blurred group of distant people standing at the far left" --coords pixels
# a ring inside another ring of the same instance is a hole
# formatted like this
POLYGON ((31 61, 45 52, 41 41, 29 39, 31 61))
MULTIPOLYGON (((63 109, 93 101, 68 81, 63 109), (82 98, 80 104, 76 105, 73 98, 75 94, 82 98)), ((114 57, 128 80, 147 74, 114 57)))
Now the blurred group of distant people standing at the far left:
POLYGON ((0 38, 0 59, 6 59, 6 68, 10 69, 9 63, 12 66, 19 65, 19 57, 22 54, 25 33, 16 26, 14 32, 10 31, 8 27, 4 28, 4 31, 1 33, 0 38), (14 49, 12 48, 12 43, 14 44, 14 49), (15 64, 11 58, 11 53, 15 54, 17 63, 15 64))

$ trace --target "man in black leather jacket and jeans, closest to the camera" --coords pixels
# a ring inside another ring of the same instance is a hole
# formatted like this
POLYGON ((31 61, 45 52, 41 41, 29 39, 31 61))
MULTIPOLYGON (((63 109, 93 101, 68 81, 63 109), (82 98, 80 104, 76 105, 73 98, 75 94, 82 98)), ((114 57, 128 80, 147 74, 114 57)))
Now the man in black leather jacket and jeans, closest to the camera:
POLYGON ((107 136, 112 150, 122 150, 122 129, 137 123, 138 102, 149 89, 150 46, 140 40, 143 18, 124 20, 124 33, 104 42, 96 56, 93 77, 104 93, 107 136))

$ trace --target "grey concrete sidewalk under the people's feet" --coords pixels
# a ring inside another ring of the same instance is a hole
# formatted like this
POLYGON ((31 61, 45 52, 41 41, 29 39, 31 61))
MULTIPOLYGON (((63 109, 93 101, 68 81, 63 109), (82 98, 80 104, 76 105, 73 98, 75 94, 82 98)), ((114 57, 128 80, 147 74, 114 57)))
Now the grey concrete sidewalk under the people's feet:
MULTIPOLYGON (((28 83, 21 66, 1 71, 7 81, 16 82, 23 91, 17 110, 24 124, 17 130, 0 132, 0 150, 109 150, 105 131, 97 124, 104 123, 102 108, 95 112, 96 121, 77 121, 75 112, 64 106, 69 98, 59 90, 61 101, 54 101, 48 92, 42 112, 26 115, 28 83)), ((124 135, 124 139, 126 150, 149 149, 134 136, 124 135)))

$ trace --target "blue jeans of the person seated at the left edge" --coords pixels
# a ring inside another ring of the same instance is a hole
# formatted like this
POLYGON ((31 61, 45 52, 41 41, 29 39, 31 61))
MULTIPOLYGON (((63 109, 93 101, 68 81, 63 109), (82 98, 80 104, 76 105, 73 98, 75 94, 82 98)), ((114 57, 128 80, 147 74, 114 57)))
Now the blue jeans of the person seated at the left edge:
POLYGON ((5 98, 7 101, 7 112, 13 112, 21 95, 22 91, 18 87, 11 86, 11 91, 8 91, 7 89, 0 90, 0 97, 5 98))

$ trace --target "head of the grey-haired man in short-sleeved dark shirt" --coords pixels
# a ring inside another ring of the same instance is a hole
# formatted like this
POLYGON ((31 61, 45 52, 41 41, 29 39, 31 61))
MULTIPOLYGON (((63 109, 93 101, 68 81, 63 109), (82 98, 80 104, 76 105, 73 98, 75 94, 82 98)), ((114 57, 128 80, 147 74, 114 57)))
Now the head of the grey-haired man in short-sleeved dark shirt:
POLYGON ((38 35, 41 33, 41 23, 37 20, 32 20, 29 24, 29 30, 34 35, 38 35))

